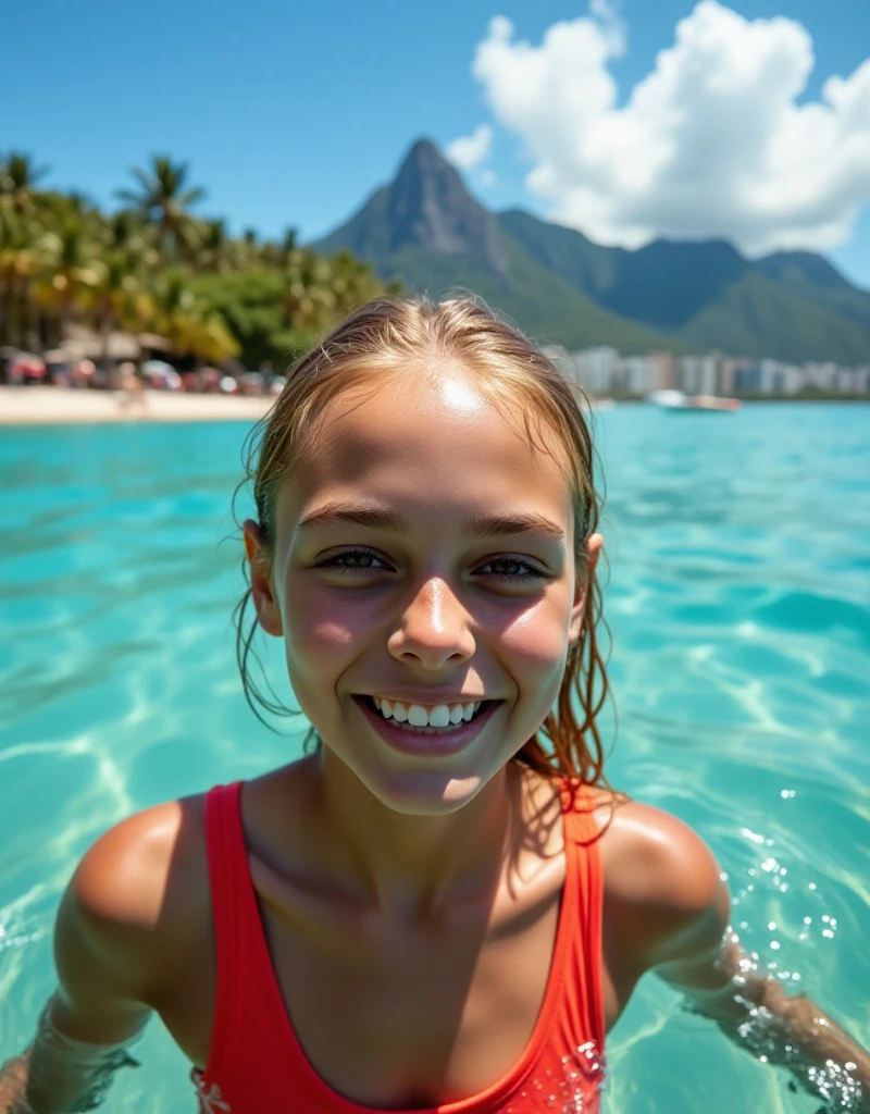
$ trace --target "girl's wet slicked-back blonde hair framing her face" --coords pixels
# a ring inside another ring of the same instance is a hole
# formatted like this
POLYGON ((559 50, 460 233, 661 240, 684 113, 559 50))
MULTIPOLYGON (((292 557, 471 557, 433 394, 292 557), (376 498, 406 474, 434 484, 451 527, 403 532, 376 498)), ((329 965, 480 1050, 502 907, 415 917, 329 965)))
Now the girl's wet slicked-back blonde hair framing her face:
MULTIPOLYGON (((584 416, 588 403, 583 391, 522 333, 470 297, 439 303, 423 297, 369 302, 290 368, 274 407, 245 442, 246 476, 240 489, 246 483, 253 488, 261 538, 268 553, 275 539, 278 487, 315 436, 330 403, 354 387, 371 384, 377 390, 389 377, 419 374, 422 367, 437 368, 448 361, 461 365, 508 420, 519 419, 536 448, 549 451, 542 433, 549 430, 556 434, 564 449, 560 463, 571 486, 577 576, 587 582, 581 632, 569 647, 556 707, 511 762, 551 779, 567 776, 606 785, 598 714, 608 695, 608 682, 598 626, 607 631, 607 625, 587 549, 600 515, 595 453, 584 416)), ((252 602, 245 558, 242 566, 248 588, 236 606, 234 620, 245 696, 261 720, 260 709, 277 715, 299 714, 285 707, 268 684, 267 694, 250 675, 251 658, 258 662, 252 649, 257 619, 253 616, 245 629, 252 602)), ((313 729, 305 749, 312 743, 321 745, 313 729)))

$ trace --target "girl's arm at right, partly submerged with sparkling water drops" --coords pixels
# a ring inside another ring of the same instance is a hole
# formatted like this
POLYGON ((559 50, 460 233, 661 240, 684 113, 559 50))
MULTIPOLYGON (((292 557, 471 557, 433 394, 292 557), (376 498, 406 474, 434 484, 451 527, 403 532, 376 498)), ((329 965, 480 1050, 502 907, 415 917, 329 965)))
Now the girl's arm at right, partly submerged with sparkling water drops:
POLYGON ((668 818, 642 941, 644 967, 683 990, 692 1009, 766 1063, 782 1065, 831 1108, 870 1114, 870 1055, 807 995, 789 997, 729 929, 731 899, 706 844, 668 818))

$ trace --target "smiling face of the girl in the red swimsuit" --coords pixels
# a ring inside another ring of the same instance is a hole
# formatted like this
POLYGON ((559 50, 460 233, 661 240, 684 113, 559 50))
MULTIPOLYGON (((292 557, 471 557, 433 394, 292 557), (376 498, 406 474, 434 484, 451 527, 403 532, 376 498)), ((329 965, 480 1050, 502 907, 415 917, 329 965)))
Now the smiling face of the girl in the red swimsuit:
POLYGON ((541 725, 580 632, 564 450, 529 444, 460 367, 343 395, 313 442, 271 563, 245 525, 257 616, 324 762, 399 812, 450 812, 541 725))

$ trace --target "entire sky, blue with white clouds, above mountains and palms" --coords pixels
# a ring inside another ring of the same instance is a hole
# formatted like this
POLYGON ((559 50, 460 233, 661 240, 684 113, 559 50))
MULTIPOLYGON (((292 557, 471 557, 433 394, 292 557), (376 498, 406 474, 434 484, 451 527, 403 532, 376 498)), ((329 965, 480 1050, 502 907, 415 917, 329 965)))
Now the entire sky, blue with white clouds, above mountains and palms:
POLYGON ((163 153, 206 188, 201 213, 313 240, 429 136, 491 209, 629 246, 807 247, 870 289, 870 6, 854 0, 33 0, 3 22, 0 150, 107 207, 163 153))

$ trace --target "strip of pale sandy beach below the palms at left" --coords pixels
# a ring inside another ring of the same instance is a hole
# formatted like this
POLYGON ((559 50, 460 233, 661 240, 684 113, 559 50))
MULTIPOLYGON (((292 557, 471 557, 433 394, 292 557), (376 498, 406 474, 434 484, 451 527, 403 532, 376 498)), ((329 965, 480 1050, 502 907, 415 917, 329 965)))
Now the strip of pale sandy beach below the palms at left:
POLYGON ((121 404, 114 391, 74 391, 55 387, 0 387, 0 426, 69 422, 256 421, 274 400, 226 394, 146 391, 145 408, 121 404))

